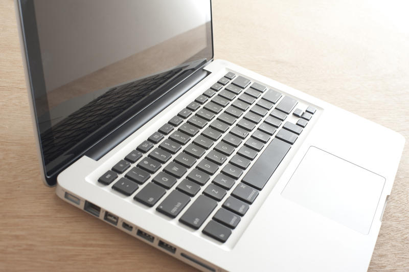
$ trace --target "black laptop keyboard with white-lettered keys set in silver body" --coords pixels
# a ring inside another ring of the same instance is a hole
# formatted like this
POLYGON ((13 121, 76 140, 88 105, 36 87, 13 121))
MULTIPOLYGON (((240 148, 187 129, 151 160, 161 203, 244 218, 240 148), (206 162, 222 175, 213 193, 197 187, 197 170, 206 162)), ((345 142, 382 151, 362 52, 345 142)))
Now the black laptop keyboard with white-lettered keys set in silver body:
POLYGON ((223 243, 316 111, 297 104, 229 72, 98 181, 193 230, 218 207, 202 233, 223 243))

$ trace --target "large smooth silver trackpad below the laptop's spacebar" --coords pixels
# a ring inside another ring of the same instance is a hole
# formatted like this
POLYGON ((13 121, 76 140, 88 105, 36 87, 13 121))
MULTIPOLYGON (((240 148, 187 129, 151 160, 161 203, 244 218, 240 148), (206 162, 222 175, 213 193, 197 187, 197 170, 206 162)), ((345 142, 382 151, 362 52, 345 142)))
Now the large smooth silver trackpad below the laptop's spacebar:
POLYGON ((368 234, 385 178, 311 146, 282 195, 368 234))

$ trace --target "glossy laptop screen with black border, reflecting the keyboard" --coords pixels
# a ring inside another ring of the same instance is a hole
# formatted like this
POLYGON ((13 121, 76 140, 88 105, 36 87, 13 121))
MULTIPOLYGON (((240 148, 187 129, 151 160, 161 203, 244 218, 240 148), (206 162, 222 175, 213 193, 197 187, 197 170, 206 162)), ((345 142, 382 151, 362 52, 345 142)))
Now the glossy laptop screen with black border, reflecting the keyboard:
POLYGON ((46 176, 213 58, 209 0, 20 5, 46 176))

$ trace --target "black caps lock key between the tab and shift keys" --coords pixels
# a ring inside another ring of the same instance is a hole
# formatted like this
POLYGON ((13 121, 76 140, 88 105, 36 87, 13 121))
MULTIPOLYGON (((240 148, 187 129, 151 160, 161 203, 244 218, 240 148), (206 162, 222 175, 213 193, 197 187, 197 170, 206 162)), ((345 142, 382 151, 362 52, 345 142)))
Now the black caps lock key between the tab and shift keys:
POLYGON ((186 194, 173 190, 163 201, 157 206, 156 211, 161 212, 169 217, 175 218, 181 210, 189 203, 190 197, 186 194))

